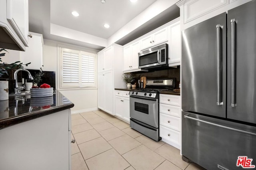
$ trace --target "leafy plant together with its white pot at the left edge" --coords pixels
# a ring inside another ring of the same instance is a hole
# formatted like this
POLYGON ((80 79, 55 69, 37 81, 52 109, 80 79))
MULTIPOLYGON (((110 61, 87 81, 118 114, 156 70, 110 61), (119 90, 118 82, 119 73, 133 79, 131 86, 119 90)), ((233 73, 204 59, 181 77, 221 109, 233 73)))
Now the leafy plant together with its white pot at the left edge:
MULTIPOLYGON (((4 56, 6 53, 3 53, 6 51, 4 48, 0 48, 0 62, 2 62, 2 56, 4 56)), ((8 52, 8 51, 6 51, 8 52)), ((16 61, 14 63, 0 63, 0 78, 6 78, 8 75, 8 71, 11 71, 12 69, 21 69, 23 68, 23 65, 28 66, 28 64, 22 64, 20 61, 16 61)), ((2 100, 8 100, 9 99, 9 90, 8 90, 8 81, 0 81, 0 101, 2 100)))

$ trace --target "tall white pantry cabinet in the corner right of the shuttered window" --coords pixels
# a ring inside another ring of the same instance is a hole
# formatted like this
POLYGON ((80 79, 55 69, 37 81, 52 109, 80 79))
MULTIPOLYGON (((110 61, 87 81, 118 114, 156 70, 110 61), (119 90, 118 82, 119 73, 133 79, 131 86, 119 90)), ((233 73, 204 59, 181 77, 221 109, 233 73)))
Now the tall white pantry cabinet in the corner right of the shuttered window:
POLYGON ((114 88, 125 88, 122 80, 123 47, 112 44, 98 52, 98 108, 114 115, 114 88))

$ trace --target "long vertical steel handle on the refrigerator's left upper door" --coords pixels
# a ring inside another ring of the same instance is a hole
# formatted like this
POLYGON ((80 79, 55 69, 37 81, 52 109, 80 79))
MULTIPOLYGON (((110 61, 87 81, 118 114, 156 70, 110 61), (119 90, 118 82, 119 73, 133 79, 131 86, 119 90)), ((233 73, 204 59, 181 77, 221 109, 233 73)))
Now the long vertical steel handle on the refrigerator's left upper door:
POLYGON ((216 26, 217 28, 217 103, 216 105, 223 105, 222 101, 222 81, 221 81, 221 65, 222 65, 222 60, 220 59, 221 57, 221 34, 220 34, 220 29, 223 28, 220 24, 216 26))

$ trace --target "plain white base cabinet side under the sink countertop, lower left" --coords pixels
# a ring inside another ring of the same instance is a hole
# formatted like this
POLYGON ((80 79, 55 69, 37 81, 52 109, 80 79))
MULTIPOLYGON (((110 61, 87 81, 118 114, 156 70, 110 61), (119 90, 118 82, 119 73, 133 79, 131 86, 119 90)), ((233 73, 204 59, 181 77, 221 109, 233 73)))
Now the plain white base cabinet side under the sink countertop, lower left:
POLYGON ((1 170, 71 170, 71 111, 0 130, 1 170))

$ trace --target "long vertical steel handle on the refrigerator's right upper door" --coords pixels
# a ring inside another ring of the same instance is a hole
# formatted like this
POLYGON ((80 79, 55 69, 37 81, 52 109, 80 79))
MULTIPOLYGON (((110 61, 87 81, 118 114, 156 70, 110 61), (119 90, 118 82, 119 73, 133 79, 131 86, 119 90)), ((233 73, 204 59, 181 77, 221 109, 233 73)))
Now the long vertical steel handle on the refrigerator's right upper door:
POLYGON ((235 80, 235 39, 236 39, 236 19, 231 21, 231 107, 236 107, 236 80, 235 80))

